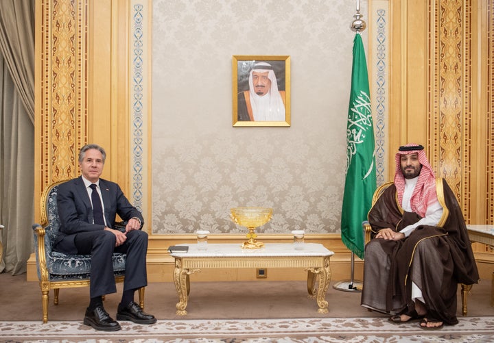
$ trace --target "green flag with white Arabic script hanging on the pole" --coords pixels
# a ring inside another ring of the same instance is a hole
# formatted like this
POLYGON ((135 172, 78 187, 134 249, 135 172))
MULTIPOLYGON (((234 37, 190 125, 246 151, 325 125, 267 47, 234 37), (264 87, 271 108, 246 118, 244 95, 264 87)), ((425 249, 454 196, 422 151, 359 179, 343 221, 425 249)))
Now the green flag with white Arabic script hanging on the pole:
POLYGON ((364 258, 364 231, 376 188, 374 130, 367 64, 360 34, 353 40, 353 65, 346 125, 346 179, 342 207, 342 241, 364 258))

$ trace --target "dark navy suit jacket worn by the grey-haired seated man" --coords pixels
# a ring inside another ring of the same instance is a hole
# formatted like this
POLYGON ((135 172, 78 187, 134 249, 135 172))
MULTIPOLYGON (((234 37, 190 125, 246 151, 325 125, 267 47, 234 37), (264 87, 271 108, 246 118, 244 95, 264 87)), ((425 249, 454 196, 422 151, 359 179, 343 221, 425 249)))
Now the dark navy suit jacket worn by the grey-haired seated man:
MULTIPOLYGON (((141 212, 129 203, 117 183, 99 179, 99 188, 102 192, 104 216, 108 227, 115 227, 117 214, 122 220, 139 218, 141 227, 144 225, 141 212)), ((56 250, 77 253, 73 242, 75 233, 104 229, 104 225, 93 224, 93 207, 82 177, 71 179, 58 186, 57 206, 61 226, 55 242, 56 250)))

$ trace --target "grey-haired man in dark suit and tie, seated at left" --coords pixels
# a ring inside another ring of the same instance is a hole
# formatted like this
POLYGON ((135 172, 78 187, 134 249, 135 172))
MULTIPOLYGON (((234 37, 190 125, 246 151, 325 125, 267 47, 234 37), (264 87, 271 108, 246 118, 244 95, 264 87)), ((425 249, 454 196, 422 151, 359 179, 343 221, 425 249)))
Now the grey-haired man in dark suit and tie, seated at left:
POLYGON ((57 205, 61 227, 55 250, 91 255, 91 301, 84 324, 97 330, 117 331, 119 323, 105 311, 102 296, 117 292, 113 274, 113 253, 126 253, 126 276, 117 320, 153 324, 134 302, 134 293, 148 284, 146 253, 148 233, 141 212, 132 206, 117 183, 99 179, 106 153, 96 144, 82 147, 79 153, 81 177, 58 186, 57 205), (113 229, 116 215, 127 221, 125 231, 113 229))

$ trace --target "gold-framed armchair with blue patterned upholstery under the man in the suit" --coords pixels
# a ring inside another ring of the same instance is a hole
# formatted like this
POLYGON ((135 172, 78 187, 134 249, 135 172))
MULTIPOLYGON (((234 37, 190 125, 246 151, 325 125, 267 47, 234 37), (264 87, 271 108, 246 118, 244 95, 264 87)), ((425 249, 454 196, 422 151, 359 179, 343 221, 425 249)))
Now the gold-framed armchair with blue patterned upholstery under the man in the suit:
MULTIPOLYGON (((91 255, 69 255, 53 250, 53 244, 60 228, 56 194, 58 185, 53 183, 41 196, 41 225, 34 224, 34 250, 36 269, 43 302, 43 323, 48 322, 49 291, 54 290, 54 304, 58 305, 60 288, 88 286, 91 255)), ((126 254, 113 254, 115 281, 125 278, 126 254)), ((139 305, 144 308, 144 288, 139 289, 139 305)))

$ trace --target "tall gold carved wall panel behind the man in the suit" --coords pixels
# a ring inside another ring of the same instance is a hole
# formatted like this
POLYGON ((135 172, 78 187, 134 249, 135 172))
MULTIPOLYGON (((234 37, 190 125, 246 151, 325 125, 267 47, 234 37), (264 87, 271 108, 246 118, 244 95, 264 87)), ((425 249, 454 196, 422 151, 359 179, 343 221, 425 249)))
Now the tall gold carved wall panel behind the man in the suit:
MULTIPOLYGON (((87 127, 87 1, 42 0, 36 88, 35 201, 50 183, 75 177, 87 127)), ((39 209, 36 209, 39 211, 39 209)), ((39 213, 36 213, 39 218, 39 213)))

